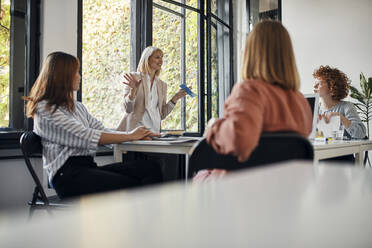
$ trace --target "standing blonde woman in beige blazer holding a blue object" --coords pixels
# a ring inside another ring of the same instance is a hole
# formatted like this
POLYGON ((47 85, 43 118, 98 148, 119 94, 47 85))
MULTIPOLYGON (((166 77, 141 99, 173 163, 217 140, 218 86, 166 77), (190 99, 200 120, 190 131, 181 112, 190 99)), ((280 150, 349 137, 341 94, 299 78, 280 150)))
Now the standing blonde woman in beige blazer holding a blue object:
POLYGON ((149 46, 142 52, 137 72, 124 75, 125 113, 118 130, 131 131, 138 126, 145 126, 153 132, 160 132, 161 120, 186 95, 184 90, 179 90, 167 102, 167 84, 159 78, 162 64, 162 50, 149 46))

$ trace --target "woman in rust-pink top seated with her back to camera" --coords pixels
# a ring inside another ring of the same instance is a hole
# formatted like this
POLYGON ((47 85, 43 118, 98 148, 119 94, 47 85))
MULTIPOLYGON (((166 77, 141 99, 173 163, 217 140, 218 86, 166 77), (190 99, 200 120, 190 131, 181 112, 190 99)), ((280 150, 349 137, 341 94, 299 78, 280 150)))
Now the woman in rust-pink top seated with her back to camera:
POLYGON ((207 142, 218 153, 235 155, 242 162, 258 145, 262 132, 310 134, 311 109, 299 92, 291 39, 280 22, 260 22, 249 33, 242 78, 225 102, 225 116, 206 132, 207 142))

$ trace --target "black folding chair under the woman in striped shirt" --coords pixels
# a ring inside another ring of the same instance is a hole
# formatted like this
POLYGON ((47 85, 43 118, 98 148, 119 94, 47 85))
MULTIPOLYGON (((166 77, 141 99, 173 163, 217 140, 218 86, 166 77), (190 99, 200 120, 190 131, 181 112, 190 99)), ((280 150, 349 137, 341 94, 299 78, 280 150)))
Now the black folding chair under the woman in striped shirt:
POLYGON ((35 183, 32 199, 28 202, 28 205, 30 205, 29 218, 32 217, 33 212, 36 209, 46 209, 49 214, 52 214, 52 208, 58 209, 70 206, 67 203, 62 203, 57 195, 50 197, 46 196, 39 177, 32 166, 30 157, 41 156, 42 154, 41 138, 32 131, 26 131, 21 136, 20 145, 27 169, 35 183))

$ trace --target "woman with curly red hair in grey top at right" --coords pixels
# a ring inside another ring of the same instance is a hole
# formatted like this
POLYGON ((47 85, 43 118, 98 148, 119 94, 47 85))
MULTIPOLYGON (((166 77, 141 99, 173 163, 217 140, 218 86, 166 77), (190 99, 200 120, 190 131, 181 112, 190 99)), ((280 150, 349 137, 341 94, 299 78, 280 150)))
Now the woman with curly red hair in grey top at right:
POLYGON ((355 139, 366 136, 366 127, 359 118, 354 104, 342 101, 349 94, 349 79, 337 68, 320 66, 313 73, 317 81, 314 92, 319 94, 321 118, 329 122, 332 116, 340 116, 345 127, 344 135, 355 139))

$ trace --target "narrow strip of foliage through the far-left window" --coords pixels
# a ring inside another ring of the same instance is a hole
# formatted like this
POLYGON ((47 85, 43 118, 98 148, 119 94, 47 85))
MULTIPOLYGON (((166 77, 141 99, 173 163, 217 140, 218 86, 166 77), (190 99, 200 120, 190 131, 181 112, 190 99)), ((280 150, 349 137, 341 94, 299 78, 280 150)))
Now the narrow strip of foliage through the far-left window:
POLYGON ((10 1, 2 1, 0 10, 0 127, 9 125, 9 42, 10 1))

